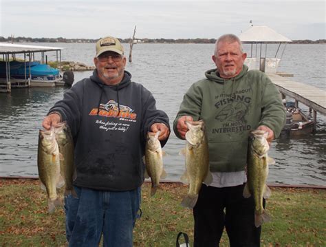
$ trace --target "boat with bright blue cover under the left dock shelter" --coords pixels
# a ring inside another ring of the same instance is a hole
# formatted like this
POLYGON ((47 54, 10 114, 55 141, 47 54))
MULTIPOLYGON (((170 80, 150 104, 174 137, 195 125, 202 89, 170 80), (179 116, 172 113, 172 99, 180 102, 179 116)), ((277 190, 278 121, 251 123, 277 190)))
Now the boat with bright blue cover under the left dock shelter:
MULTIPOLYGON (((10 61, 10 81, 12 87, 28 82, 30 87, 53 87, 61 83, 58 69, 40 62, 10 61)), ((6 79, 6 62, 0 61, 0 79, 6 79)))

